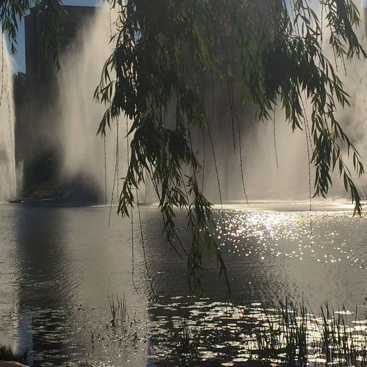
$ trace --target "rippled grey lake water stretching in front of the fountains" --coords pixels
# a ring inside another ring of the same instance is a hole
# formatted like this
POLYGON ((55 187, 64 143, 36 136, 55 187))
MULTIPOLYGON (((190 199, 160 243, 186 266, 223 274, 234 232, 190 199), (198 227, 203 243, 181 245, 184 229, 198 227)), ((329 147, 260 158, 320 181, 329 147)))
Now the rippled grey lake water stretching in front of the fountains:
MULTIPOLYGON (((175 366, 182 357, 174 350, 177 323, 186 317, 196 335, 208 335, 223 319, 250 317, 259 304, 286 294, 315 308, 326 300, 351 312, 358 305, 363 315, 366 219, 353 217, 346 205, 316 205, 311 235, 305 207, 233 204, 216 211, 233 294, 228 306, 214 259, 205 260, 205 298, 188 297, 185 260, 164 241, 162 216, 153 206, 141 207, 142 227, 134 211, 132 230, 116 208, 108 226, 107 207, 1 204, 0 344, 28 349, 35 367, 175 366), (108 297, 115 305, 116 297, 125 297, 124 330, 112 325, 108 297)), ((188 247, 184 219, 179 213, 178 232, 188 247)), ((200 344, 200 360, 236 365, 221 353, 221 341, 208 344, 217 349, 200 344)))

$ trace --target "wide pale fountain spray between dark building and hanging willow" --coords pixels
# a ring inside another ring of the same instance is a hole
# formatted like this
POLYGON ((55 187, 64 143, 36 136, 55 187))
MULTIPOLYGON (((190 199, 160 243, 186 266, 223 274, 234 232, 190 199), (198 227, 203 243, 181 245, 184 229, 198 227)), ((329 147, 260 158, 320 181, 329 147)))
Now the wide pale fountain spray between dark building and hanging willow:
MULTIPOLYGON (((94 185, 100 202, 104 202, 106 190, 108 203, 112 191, 117 198, 118 180, 126 164, 126 141, 116 139, 116 124, 111 125, 113 131, 107 128, 105 141, 96 136, 106 106, 94 102, 93 95, 103 65, 112 53, 109 41, 113 27, 108 8, 97 7, 62 56, 58 74, 62 177, 94 185)), ((126 121, 119 129, 120 137, 124 136, 126 121)))

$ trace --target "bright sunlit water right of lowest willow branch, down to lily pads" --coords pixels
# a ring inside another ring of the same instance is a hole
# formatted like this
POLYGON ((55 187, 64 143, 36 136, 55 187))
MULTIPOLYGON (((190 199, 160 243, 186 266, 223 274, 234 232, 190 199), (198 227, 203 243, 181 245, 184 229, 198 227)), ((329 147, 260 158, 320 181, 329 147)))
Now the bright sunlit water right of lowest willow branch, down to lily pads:
POLYGON ((353 309, 364 299, 365 221, 347 211, 314 212, 311 232, 307 211, 225 211, 226 230, 218 232, 235 274, 233 288, 254 289, 247 303, 287 293, 317 306, 329 299, 353 309))

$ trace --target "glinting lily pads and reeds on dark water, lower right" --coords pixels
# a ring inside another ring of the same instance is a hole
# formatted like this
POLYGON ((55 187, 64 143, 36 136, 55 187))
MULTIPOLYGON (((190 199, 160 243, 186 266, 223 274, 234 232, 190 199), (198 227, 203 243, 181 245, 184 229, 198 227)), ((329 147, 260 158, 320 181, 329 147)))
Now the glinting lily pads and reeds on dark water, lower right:
POLYGON ((366 365, 366 321, 353 315, 349 326, 345 310, 324 305, 315 315, 290 302, 274 308, 171 301, 150 307, 150 359, 157 366, 366 365))

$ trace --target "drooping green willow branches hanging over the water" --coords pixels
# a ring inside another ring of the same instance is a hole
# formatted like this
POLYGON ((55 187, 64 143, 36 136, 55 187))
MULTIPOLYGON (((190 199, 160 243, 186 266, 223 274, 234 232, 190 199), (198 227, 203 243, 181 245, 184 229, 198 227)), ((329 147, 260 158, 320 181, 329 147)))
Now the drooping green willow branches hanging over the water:
MULTIPOLYGON (((60 1, 37 2, 46 3, 46 9, 50 7, 52 16, 57 16, 60 1)), ((355 213, 361 214, 360 196, 342 150, 351 155, 358 175, 364 168, 336 119, 337 109, 349 105, 349 96, 334 60, 329 60, 324 50, 331 47, 340 64, 352 57, 366 57, 356 35, 360 14, 351 0, 109 2, 118 11, 117 32, 112 35, 114 51, 106 61, 95 97, 108 105, 100 134, 105 135, 121 116, 132 122, 129 168, 118 212, 129 216, 130 207, 137 202, 137 188, 148 173, 160 198, 167 240, 178 250, 181 241, 175 212, 186 210, 192 233, 187 253, 192 291, 201 294, 206 252, 215 254, 220 274, 229 285, 211 235, 215 226, 212 204, 202 192, 201 165, 192 143, 193 131, 207 134, 216 162, 211 107, 203 97, 204 89, 213 88, 214 81, 228 90, 231 121, 223 129, 232 129, 233 139, 238 137, 240 142, 243 130, 237 114, 238 96, 243 105, 251 106, 258 120, 271 120, 277 107, 283 109, 286 122, 293 130, 305 130, 310 143, 310 164, 316 171, 314 195, 326 197, 331 173, 337 171, 355 202, 355 213), (324 19, 318 18, 315 3, 324 19), (323 39, 326 31, 330 37, 323 39), (210 80, 211 86, 204 85, 204 80, 210 80), (311 108, 310 116, 305 103, 311 108), (169 119, 172 111, 174 118, 169 119)), ((27 1, 22 2, 23 7, 19 3, 8 0, 1 5, 3 30, 9 31, 12 40, 16 17, 23 16, 29 6, 27 1)), ((57 44, 52 33, 57 22, 52 24, 53 29, 46 29, 45 34, 53 45, 57 44)), ((219 179, 218 185, 220 190, 219 179)))

